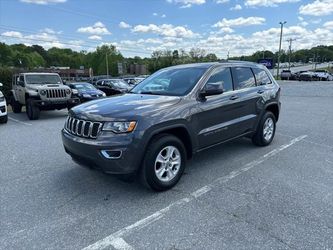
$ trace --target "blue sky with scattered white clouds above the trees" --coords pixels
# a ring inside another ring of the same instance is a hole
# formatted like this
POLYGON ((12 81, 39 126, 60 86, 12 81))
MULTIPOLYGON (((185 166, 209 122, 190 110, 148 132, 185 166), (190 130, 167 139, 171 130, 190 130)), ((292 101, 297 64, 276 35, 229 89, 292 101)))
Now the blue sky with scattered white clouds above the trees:
POLYGON ((219 58, 333 45, 333 0, 0 0, 0 42, 124 56, 201 48, 219 58))

